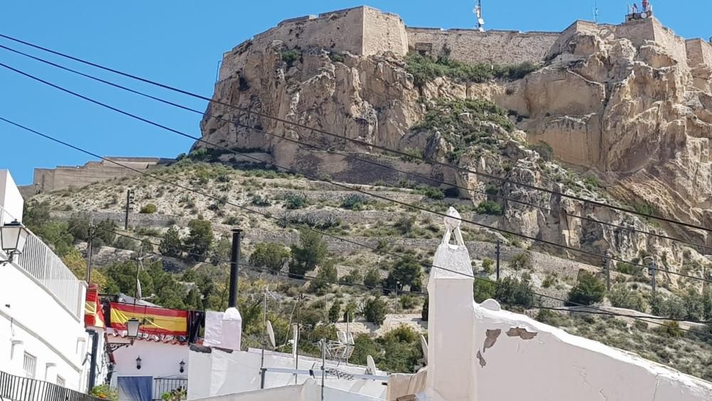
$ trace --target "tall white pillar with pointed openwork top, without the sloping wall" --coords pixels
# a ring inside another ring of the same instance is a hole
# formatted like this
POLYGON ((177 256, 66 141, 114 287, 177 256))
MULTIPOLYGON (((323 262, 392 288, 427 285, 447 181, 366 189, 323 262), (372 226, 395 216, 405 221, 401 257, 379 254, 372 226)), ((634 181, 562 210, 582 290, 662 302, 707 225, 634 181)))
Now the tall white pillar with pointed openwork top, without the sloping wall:
POLYGON ((452 207, 447 214, 428 283, 428 373, 420 399, 474 400, 472 265, 460 231, 460 214, 452 207), (453 236, 455 244, 450 243, 453 236))

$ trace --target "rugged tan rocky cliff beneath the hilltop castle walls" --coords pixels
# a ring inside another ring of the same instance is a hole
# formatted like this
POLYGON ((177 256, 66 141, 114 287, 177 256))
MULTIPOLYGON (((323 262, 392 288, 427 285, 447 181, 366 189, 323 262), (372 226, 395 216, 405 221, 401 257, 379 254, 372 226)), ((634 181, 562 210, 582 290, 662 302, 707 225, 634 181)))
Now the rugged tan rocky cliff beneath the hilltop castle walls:
MULTIPOLYGON (((686 43, 663 28, 653 30, 657 36, 651 34, 651 41, 622 27, 562 33, 545 63, 523 78, 483 79, 474 67, 457 64, 448 68, 469 75, 427 70, 426 79, 419 79, 414 72, 432 66, 414 65, 412 58, 390 52, 354 56, 338 48, 248 41, 226 53, 214 99, 365 144, 709 225, 711 70, 703 63, 691 66, 679 52, 686 43), (550 160, 551 150, 556 160, 577 171, 550 160)), ((268 152, 281 166, 347 181, 381 178, 373 175, 372 166, 354 162, 353 157, 375 152, 367 145, 216 103, 201 127, 209 142, 268 152), (334 159, 281 137, 349 156, 334 159), (351 175, 335 176, 343 171, 351 175)), ((652 252, 663 256, 666 269, 680 269, 687 259, 698 258, 671 241, 576 218, 664 232, 628 214, 476 174, 412 168, 467 188, 473 206, 485 204, 480 220, 488 225, 600 254, 611 251, 623 259, 652 252)), ((706 240, 703 232, 664 228, 706 240)))

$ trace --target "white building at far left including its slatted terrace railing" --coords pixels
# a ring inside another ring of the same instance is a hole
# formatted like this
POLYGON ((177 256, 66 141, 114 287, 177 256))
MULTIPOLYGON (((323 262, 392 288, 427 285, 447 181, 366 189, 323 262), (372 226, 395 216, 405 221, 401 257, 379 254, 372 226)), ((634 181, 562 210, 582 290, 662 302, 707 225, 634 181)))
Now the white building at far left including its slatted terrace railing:
MULTIPOLYGON (((0 225, 21 222, 22 211, 23 199, 12 177, 0 170, 0 225)), ((0 261, 7 259, 0 250, 0 261)), ((22 254, 0 265, 4 375, 87 392, 91 343, 84 326, 86 288, 41 239, 29 234, 22 254)), ((14 400, 8 397, 4 395, 14 400)))

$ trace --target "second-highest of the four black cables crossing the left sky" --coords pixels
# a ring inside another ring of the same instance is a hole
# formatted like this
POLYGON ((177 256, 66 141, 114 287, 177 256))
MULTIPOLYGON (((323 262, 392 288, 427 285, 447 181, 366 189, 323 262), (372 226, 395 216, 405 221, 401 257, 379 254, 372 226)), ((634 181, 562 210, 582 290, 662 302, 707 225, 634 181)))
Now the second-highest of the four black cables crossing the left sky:
MULTIPOLYGON (((308 143, 306 143, 306 142, 302 142, 302 141, 299 141, 299 140, 295 140, 295 139, 290 138, 290 137, 284 137, 284 136, 281 136, 281 135, 277 135, 277 134, 275 134, 275 133, 273 133, 273 132, 268 132, 268 131, 266 131, 266 130, 262 130, 262 129, 259 129, 259 128, 256 128, 256 127, 251 127, 251 126, 249 126, 249 125, 244 125, 244 124, 238 123, 238 122, 236 122, 236 121, 228 120, 228 119, 223 118, 223 117, 221 117, 221 116, 212 115, 212 114, 207 113, 207 112, 206 112, 206 113, 203 113, 203 112, 201 112, 200 110, 196 110, 196 109, 194 109, 194 108, 189 108, 189 107, 184 106, 184 105, 181 105, 181 104, 179 104, 179 103, 174 103, 174 102, 171 102, 171 101, 169 101, 169 100, 165 100, 165 99, 162 99, 162 98, 158 98, 157 96, 149 95, 149 94, 147 94, 147 93, 145 93, 145 92, 142 92, 142 91, 140 91, 140 90, 135 90, 135 89, 132 89, 132 88, 127 88, 126 86, 123 86, 123 85, 120 85, 120 84, 117 84, 117 83, 113 83, 113 82, 111 82, 111 81, 104 80, 104 79, 102 79, 102 78, 98 78, 98 77, 96 77, 96 76, 94 76, 94 75, 90 75, 90 74, 87 74, 87 73, 82 73, 82 72, 80 72, 80 71, 74 70, 73 68, 68 68, 68 67, 66 67, 66 66, 61 66, 60 64, 53 63, 52 61, 48 61, 48 60, 43 59, 43 58, 40 58, 40 57, 32 56, 31 54, 24 53, 24 52, 22 52, 22 51, 19 51, 19 50, 14 49, 14 48, 10 48, 10 47, 8 47, 8 46, 0 45, 0 48, 4 48, 4 49, 7 50, 7 51, 11 51, 11 52, 13 52, 13 53, 20 54, 21 56, 25 56, 25 57, 31 58, 31 59, 33 59, 33 60, 35 60, 35 61, 39 61, 39 62, 41 62, 41 63, 46 63, 46 64, 48 64, 48 65, 50 65, 50 66, 53 66, 53 67, 56 67, 56 68, 60 68, 60 69, 63 70, 63 71, 68 71, 68 72, 70 72, 70 73, 74 73, 74 74, 83 76, 83 77, 85 77, 85 78, 89 78, 89 79, 91 79, 91 80, 95 80, 95 81, 98 81, 98 82, 100 82, 100 83, 104 83, 104 84, 106 84, 106 85, 110 85, 110 86, 112 86, 112 87, 114 87, 114 88, 119 88, 119 89, 121 89, 121 90, 125 90, 125 91, 127 91, 127 92, 134 93, 134 94, 136 94, 136 95, 140 95, 140 96, 143 96, 143 97, 145 97, 145 98, 149 98, 149 99, 151 99, 151 100, 156 100, 156 101, 158 101, 158 102, 160 102, 160 103, 164 103, 164 104, 166 104, 166 105, 171 105, 171 106, 173 106, 173 107, 175 107, 175 108, 180 108, 180 109, 182 109, 182 110, 187 110, 187 111, 190 111, 190 112, 192 112, 192 113, 197 113, 197 114, 199 114, 199 115, 205 115, 205 116, 208 116, 208 117, 210 117, 210 118, 214 118, 214 119, 216 119, 216 120, 223 121, 224 123, 233 124, 233 125, 236 125, 236 126, 239 126, 239 127, 245 127, 245 128, 247 128, 248 130, 253 130, 253 131, 256 131, 256 132, 261 132, 261 133, 263 133, 263 134, 265 134, 265 135, 270 135, 270 136, 272 136, 272 137, 277 137, 277 138, 279 138, 279 139, 281 139, 281 140, 287 140, 288 142, 293 142, 293 143, 295 143, 295 144, 298 144, 298 145, 301 145, 301 146, 305 146, 305 147, 309 147, 309 148, 314 149, 314 150, 325 151, 325 152, 329 152, 329 153, 332 153, 332 154, 335 154, 335 155, 342 155, 342 156, 344 156, 344 157, 355 156, 355 158, 357 158, 357 160, 360 160, 360 161, 362 161, 362 162, 366 162, 366 163, 369 163, 369 164, 371 164, 371 165, 375 165, 375 166, 377 166, 377 167, 382 167, 382 168, 385 168, 385 169, 387 169, 387 170, 392 170, 392 171, 395 171, 395 172, 400 172, 400 173, 402 173, 402 174, 410 175, 410 176, 412 176, 412 177, 417 177, 417 178, 419 178, 419 179, 423 179, 423 180, 426 180, 426 181, 429 181, 429 182, 434 182, 434 183, 436 183, 436 184, 445 184, 445 185, 447 185, 447 186, 449 186, 449 187, 454 187, 454 188, 457 188, 457 189, 463 189, 464 191, 467 191, 467 192, 476 192, 476 193, 478 193, 478 194, 485 194, 485 195, 487 195, 487 196, 495 197, 495 198, 497 198, 497 199, 503 199, 503 200, 506 200, 506 201, 508 201, 508 202, 514 202, 514 203, 517 203, 517 204, 523 204, 523 205, 528 206, 528 207, 534 207, 534 208, 536 208, 536 209, 541 209, 541 210, 543 210, 543 211, 545 211, 545 212, 549 212, 549 213, 552 213, 552 214, 557 214, 557 213, 558 213, 556 210, 550 209, 550 208, 548 208, 548 207, 540 206, 540 205, 533 204, 533 203, 530 203, 530 202, 524 202, 524 201, 521 201, 521 200, 518 200, 518 199, 513 199, 513 198, 511 198, 511 197, 506 197, 506 196, 501 195, 501 194, 490 194, 490 193, 488 193, 488 192, 486 192, 486 191, 482 191, 481 189, 470 189, 470 188, 467 188, 467 187, 462 187, 462 186, 460 186, 460 185, 458 185, 458 184, 456 184, 456 183, 454 184, 454 183, 451 183, 451 182, 441 181, 441 180, 439 180, 439 179, 435 179, 435 178, 432 178, 432 177, 427 177, 427 176, 425 176, 425 175, 421 175, 421 174, 418 174, 418 173, 416 173, 416 172, 408 172, 408 171, 404 171, 404 170, 399 170, 399 169, 397 169, 396 167, 392 167, 392 166, 389 166, 389 165, 384 165, 384 164, 382 164, 382 163, 376 162, 375 160, 370 160, 370 158, 368 158, 368 157, 358 157, 358 156, 357 156, 357 155, 365 155, 365 154, 361 154, 361 153, 357 153, 357 154, 355 154, 355 155, 354 155, 354 154, 346 154, 346 153, 338 152, 338 151, 336 151, 336 150, 328 149, 328 148, 325 148, 325 147, 318 147, 318 146, 316 146, 316 145, 311 145, 311 144, 308 144, 308 143)), ((688 241, 688 240, 685 240, 685 239, 680 239, 680 238, 676 238, 676 237, 672 237, 672 236, 667 236, 667 235, 665 235, 665 234, 657 234, 657 233, 654 233, 654 232, 651 232, 651 231, 644 231, 644 230, 636 229, 636 228, 630 227, 630 226, 621 226, 621 225, 612 224, 612 223, 609 223, 609 222, 601 222, 601 221, 599 221, 599 220, 597 220, 597 219, 593 219, 593 218, 591 218, 591 217, 580 216, 580 215, 577 215, 577 214, 571 214, 571 213, 566 212, 564 209, 562 209, 562 214, 565 214, 565 216, 572 217, 572 218, 575 218, 575 219, 581 219, 581 220, 585 220, 585 221, 587 221, 587 222, 595 222, 595 223, 597 223, 597 224, 602 224, 602 225, 604 225, 604 226, 611 226, 611 227, 616 228, 616 229, 622 229, 622 230, 630 231, 630 232, 633 232, 633 233, 636 233, 636 234, 644 234, 644 235, 648 235, 648 236, 655 236, 655 237, 661 238, 661 239, 668 239, 668 240, 670 240, 670 241, 676 241, 676 242, 679 242, 679 243, 681 243, 681 244, 687 244, 687 245, 690 245, 690 246, 697 246, 698 248, 701 248, 701 249, 712 249, 712 246, 706 246, 706 245, 703 245, 703 244, 698 244, 698 243, 696 243, 696 242, 692 242, 692 241, 688 241)))

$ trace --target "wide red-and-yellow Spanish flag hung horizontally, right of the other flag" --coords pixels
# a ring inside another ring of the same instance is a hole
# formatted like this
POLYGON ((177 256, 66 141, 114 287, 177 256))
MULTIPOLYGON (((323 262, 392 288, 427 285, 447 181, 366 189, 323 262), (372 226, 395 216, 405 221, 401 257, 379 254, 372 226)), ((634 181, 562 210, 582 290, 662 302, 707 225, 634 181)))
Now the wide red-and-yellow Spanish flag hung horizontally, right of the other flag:
POLYGON ((126 322, 137 318, 141 322, 140 333, 177 336, 188 334, 188 311, 118 302, 112 302, 109 306, 111 328, 115 330, 126 330, 126 322))

